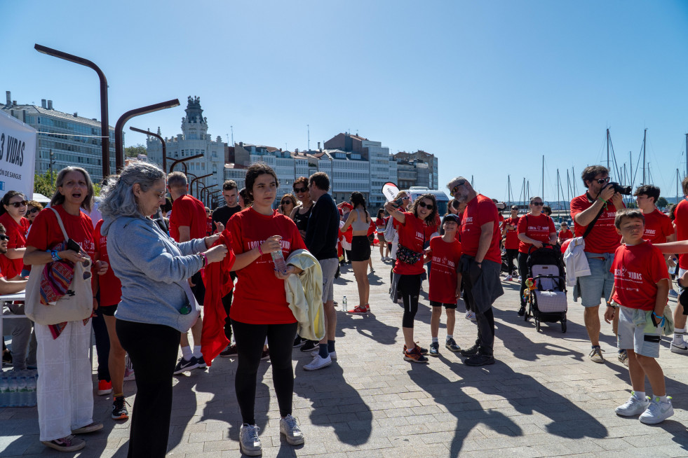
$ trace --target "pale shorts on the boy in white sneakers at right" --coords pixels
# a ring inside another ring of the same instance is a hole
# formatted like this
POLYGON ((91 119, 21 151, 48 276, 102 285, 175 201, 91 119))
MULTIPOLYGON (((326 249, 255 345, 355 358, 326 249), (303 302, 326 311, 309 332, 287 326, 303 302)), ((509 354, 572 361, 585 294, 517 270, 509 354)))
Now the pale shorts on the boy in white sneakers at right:
POLYGON ((654 326, 651 311, 619 307, 619 330, 616 347, 633 351, 649 358, 659 358, 659 345, 663 328, 654 326))

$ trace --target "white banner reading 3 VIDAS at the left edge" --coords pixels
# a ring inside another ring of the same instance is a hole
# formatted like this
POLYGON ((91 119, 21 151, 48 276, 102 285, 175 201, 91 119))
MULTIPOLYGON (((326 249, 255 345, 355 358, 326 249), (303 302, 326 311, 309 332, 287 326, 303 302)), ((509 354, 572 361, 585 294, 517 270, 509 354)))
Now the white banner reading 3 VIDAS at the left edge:
POLYGON ((0 111, 0 197, 16 190, 34 195, 36 130, 0 111))

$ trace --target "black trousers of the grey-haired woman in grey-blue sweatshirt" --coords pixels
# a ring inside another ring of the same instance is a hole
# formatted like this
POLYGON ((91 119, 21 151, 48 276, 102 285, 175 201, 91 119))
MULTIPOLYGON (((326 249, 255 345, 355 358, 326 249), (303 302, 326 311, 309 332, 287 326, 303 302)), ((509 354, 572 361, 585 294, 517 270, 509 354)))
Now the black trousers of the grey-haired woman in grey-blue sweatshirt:
POLYGON ((172 376, 180 332, 161 324, 117 320, 117 337, 136 372, 128 458, 165 457, 172 416, 172 376))

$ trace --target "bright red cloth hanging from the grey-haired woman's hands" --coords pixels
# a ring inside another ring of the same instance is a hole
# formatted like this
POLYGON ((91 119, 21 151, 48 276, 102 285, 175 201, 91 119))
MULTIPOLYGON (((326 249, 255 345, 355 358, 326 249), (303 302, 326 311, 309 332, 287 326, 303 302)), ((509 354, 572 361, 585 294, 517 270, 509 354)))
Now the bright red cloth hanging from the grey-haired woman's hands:
POLYGON ((203 284, 205 284, 205 300, 203 307, 203 332, 201 333, 201 353, 208 366, 211 366, 213 359, 222 352, 224 347, 229 345, 227 336, 224 335, 224 320, 227 319, 227 312, 224 311, 222 298, 227 296, 234 288, 231 281, 229 270, 234 265, 234 251, 231 250, 231 235, 225 229, 213 247, 224 244, 227 245, 229 252, 219 263, 209 264, 205 268, 203 284))

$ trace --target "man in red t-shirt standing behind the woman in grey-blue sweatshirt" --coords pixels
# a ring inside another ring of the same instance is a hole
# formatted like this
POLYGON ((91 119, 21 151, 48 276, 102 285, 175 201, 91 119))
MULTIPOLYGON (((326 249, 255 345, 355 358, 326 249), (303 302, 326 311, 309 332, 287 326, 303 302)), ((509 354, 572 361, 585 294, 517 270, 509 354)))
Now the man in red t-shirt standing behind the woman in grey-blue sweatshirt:
MULTIPOLYGON (((170 236, 175 242, 188 242, 191 239, 202 239, 205 237, 206 220, 205 206, 196 197, 187 194, 189 186, 187 176, 182 172, 172 172, 167 177, 167 186, 172 196, 172 215, 170 216, 170 236)), ((196 272, 189 279, 191 291, 194 292, 199 305, 203 305, 205 298, 205 286, 201 272, 196 272)), ((205 368, 201 354, 201 331, 203 330, 203 320, 198 319, 194 326, 191 326, 191 335, 194 336, 194 350, 189 346, 189 337, 182 334, 180 345, 182 346, 182 357, 177 363, 175 374, 180 374, 184 370, 205 368)))

